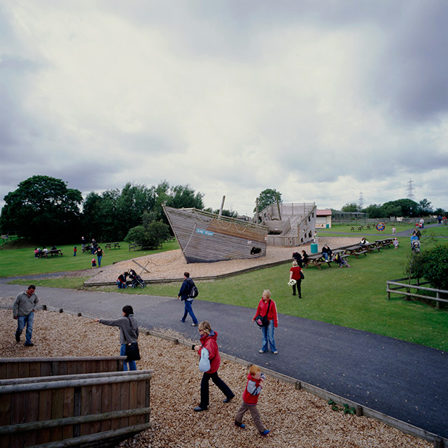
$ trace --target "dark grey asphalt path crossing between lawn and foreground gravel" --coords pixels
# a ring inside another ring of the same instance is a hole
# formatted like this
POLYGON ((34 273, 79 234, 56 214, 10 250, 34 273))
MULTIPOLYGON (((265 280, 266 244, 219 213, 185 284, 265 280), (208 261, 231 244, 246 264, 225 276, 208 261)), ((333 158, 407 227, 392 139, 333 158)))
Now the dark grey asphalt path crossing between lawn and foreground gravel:
MULTIPOLYGON (((8 285, 6 279, 0 279, 1 297, 15 297, 22 290, 23 286, 8 285)), ((190 326, 190 317, 186 323, 180 321, 183 304, 174 297, 40 287, 36 293, 41 304, 105 318, 121 316, 123 306, 131 304, 141 327, 174 330, 183 337, 199 339, 197 327, 190 326)), ((202 300, 195 300, 193 309, 200 321, 209 321, 218 332, 223 353, 448 437, 448 353, 280 314, 274 334, 279 354, 260 354, 260 329, 252 322, 255 309, 202 300)), ((15 344, 13 335, 11 344, 15 344)))

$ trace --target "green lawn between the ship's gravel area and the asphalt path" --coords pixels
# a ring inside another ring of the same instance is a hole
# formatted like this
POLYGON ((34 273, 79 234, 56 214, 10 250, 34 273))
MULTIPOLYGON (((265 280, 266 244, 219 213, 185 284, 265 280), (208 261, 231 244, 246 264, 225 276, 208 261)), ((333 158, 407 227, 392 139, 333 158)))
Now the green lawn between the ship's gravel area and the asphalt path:
MULTIPOLYGON (((331 268, 323 266, 321 270, 316 267, 306 269, 302 281, 302 300, 293 297, 292 289, 287 285, 289 263, 230 279, 197 281, 200 290, 197 300, 235 304, 253 308, 255 312, 262 289, 267 288, 271 290, 272 298, 282 314, 344 325, 448 350, 448 309, 437 310, 428 304, 402 300, 397 295, 387 300, 386 281, 405 276, 403 265, 410 253, 409 238, 402 237, 399 240, 398 250, 384 248, 380 252, 361 255, 359 259, 349 258, 350 268, 341 269, 332 265, 331 268)), ((440 242, 444 241, 437 239, 437 243, 440 242)), ((427 244, 435 242, 422 242, 423 247, 427 244)), ((2 256, 3 253, 0 253, 0 260, 2 256)), ((45 260, 35 260, 41 261, 45 260)), ((80 288, 84 279, 70 281, 48 279, 33 283, 37 286, 80 288)), ((179 287, 180 283, 167 283, 148 285, 144 289, 127 288, 120 292, 176 297, 179 287)), ((115 286, 95 289, 117 292, 115 286)))

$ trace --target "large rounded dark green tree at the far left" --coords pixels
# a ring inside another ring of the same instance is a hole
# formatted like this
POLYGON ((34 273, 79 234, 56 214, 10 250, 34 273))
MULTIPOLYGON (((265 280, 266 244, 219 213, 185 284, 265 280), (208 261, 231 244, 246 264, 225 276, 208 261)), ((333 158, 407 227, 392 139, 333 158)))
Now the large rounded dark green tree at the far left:
POLYGON ((32 176, 4 197, 0 226, 17 231, 35 244, 73 241, 80 226, 79 190, 67 188, 62 179, 32 176))

